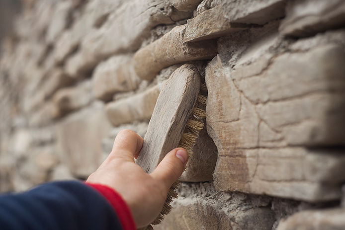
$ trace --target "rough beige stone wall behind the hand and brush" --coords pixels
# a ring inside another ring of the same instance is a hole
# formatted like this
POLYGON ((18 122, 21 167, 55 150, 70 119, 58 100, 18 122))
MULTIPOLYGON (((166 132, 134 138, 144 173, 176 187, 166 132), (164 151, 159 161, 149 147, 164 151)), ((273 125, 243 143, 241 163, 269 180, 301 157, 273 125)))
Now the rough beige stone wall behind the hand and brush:
POLYGON ((207 125, 155 229, 345 228, 345 1, 22 8, 1 46, 1 192, 86 179, 120 130, 145 136, 163 81, 192 63, 207 125))

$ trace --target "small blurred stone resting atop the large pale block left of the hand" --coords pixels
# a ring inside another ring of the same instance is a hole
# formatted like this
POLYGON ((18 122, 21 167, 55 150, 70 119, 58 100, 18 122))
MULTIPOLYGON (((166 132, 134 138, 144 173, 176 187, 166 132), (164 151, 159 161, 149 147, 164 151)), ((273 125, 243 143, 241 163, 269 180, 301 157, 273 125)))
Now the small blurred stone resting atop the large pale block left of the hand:
POLYGON ((62 88, 53 96, 53 102, 59 111, 59 116, 88 105, 91 99, 90 81, 85 81, 77 87, 62 88))

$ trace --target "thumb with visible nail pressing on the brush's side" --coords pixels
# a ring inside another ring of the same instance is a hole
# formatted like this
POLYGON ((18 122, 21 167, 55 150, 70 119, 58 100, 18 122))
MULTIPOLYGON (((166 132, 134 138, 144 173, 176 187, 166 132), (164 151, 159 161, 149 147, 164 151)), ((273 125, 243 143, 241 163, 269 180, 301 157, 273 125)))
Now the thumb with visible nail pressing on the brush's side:
POLYGON ((173 149, 158 164, 157 168, 151 173, 151 176, 160 180, 169 189, 173 182, 182 174, 187 160, 188 153, 185 149, 173 149))

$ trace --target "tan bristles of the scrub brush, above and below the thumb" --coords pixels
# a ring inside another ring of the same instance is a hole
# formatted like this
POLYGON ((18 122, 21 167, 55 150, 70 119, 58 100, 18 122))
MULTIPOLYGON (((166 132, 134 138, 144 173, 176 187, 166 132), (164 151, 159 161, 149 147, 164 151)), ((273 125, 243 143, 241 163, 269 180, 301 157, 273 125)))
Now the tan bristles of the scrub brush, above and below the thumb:
MULTIPOLYGON (((206 91, 206 84, 202 84, 200 86, 200 90, 206 91)), ((181 135, 181 140, 178 143, 178 147, 185 149, 188 152, 189 158, 193 155, 193 147, 196 143, 196 140, 199 137, 200 131, 204 128, 204 118, 206 117, 205 110, 198 108, 197 106, 204 107, 206 105, 207 97, 204 95, 199 94, 197 97, 197 102, 192 109, 191 115, 189 120, 186 123, 186 127, 184 132, 181 135)), ((168 192, 167 199, 163 205, 162 211, 160 215, 154 220, 151 224, 158 225, 162 222, 162 220, 166 217, 167 214, 170 213, 172 206, 170 203, 173 199, 177 198, 177 188, 180 182, 176 181, 173 183, 172 187, 168 192)))

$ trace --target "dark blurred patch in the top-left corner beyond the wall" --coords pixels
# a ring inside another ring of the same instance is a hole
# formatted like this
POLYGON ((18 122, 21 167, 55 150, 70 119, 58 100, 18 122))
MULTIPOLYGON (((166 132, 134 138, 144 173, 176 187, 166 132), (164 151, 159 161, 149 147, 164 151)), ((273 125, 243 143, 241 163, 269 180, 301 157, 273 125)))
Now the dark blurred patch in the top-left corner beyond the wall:
POLYGON ((11 33, 13 17, 19 12, 21 0, 0 0, 0 42, 11 33))

